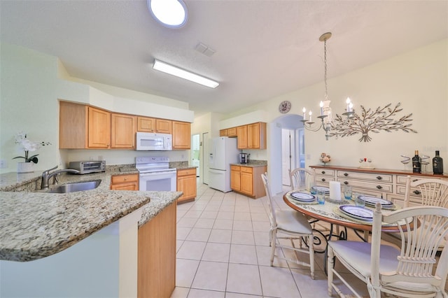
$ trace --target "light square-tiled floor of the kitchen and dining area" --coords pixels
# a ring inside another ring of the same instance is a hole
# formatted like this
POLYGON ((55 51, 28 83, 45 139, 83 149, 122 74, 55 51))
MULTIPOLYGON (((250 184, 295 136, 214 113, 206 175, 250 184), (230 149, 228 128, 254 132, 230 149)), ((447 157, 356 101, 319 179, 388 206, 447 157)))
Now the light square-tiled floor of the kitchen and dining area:
MULTIPOLYGON (((274 201, 277 208, 290 208, 282 194, 274 196, 274 201)), ((315 254, 314 280, 307 267, 295 263, 274 259, 274 267, 269 266, 267 211, 267 197, 251 199, 198 185, 196 200, 177 207, 172 297, 328 297, 323 254, 315 254)), ((352 237, 356 236, 349 231, 352 237)), ((349 273, 345 276, 353 288, 368 296, 365 283, 349 273)), ((350 293, 344 285, 340 288, 350 293)), ((337 297, 335 292, 332 297, 337 297)))

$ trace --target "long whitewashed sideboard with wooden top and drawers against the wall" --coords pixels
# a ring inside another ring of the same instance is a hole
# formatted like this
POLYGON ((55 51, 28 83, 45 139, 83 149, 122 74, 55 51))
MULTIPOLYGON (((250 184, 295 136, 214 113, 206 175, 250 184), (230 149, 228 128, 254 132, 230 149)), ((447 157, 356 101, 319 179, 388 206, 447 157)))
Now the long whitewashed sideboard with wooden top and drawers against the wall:
MULTIPOLYGON (((330 181, 339 181, 341 185, 351 185, 353 192, 381 197, 402 206, 405 198, 406 177, 412 180, 438 178, 448 180, 448 175, 433 173, 412 173, 391 169, 363 169, 351 166, 309 166, 316 171, 316 184, 328 187, 330 181)), ((420 198, 411 190, 410 205, 419 205, 420 198)))

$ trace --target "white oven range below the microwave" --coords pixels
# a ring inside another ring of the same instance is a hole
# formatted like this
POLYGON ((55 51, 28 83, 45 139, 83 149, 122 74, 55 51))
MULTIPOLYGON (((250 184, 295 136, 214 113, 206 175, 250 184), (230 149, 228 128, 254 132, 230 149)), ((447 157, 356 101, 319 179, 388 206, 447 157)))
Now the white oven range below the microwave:
POLYGON ((135 167, 139 170, 139 190, 175 192, 176 169, 169 168, 169 157, 135 157, 135 167))

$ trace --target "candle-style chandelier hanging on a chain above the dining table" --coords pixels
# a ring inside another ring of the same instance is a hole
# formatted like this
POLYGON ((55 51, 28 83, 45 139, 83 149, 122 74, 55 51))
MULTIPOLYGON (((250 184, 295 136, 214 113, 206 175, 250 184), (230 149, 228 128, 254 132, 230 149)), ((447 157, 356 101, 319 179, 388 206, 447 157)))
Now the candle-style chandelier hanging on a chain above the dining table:
MULTIPOLYGON (((325 83, 325 97, 324 100, 321 101, 319 104, 321 111, 320 115, 317 116, 318 119, 321 120, 321 123, 318 125, 313 122, 312 120, 312 111, 310 110, 308 115, 309 118, 307 119, 307 109, 303 108, 303 127, 307 130, 310 130, 311 132, 317 132, 319 129, 323 129, 325 131, 325 139, 328 141, 328 137, 330 135, 330 130, 334 129, 333 119, 332 119, 332 113, 330 108, 330 100, 328 99, 328 85, 327 85, 327 41, 331 37, 331 32, 327 32, 321 35, 319 37, 319 41, 323 41, 323 62, 325 65, 324 68, 324 83, 325 83), (315 125, 316 124, 316 125, 315 125)), ((342 115, 346 116, 347 118, 351 118, 353 116, 353 103, 351 102, 350 98, 346 99, 346 111, 345 113, 342 113, 342 115)))

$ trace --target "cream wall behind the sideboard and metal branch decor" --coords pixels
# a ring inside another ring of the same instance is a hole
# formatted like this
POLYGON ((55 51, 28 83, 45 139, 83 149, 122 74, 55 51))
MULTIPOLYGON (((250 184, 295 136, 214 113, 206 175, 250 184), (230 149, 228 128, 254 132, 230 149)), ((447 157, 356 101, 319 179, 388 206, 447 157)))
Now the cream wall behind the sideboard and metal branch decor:
MULTIPOLYGON (((331 61, 328 62, 331 67, 331 61)), ((400 155, 413 156, 414 150, 420 155, 431 158, 435 150, 440 150, 444 162, 444 172, 448 172, 448 40, 439 41, 423 48, 418 48, 391 59, 358 69, 344 76, 328 80, 328 94, 331 100, 332 112, 341 114, 345 108, 345 99, 350 97, 354 108, 360 111, 360 105, 365 108, 383 107, 386 104, 395 106, 401 103, 402 112, 395 119, 412 113, 412 128, 418 133, 380 132, 371 134, 372 141, 359 142, 360 134, 344 138, 332 138, 325 141, 325 133, 305 131, 305 152, 309 159, 307 166, 319 164, 321 152, 332 156, 330 164, 344 166, 359 166, 358 159, 372 159, 372 165, 381 169, 404 169, 400 163, 400 155)), ((280 172, 270 171, 269 165, 281 162, 276 154, 279 146, 276 129, 272 127, 282 114, 278 105, 283 100, 292 103, 289 114, 302 115, 302 108, 311 108, 314 115, 318 113, 318 104, 324 93, 323 82, 309 87, 283 94, 255 106, 228 115, 225 125, 231 127, 245 115, 253 115, 251 111, 265 111, 266 116, 251 119, 251 122, 266 121, 268 125, 267 159, 268 171, 271 176, 279 176, 280 172), (270 152, 273 150, 275 152, 270 152)), ((223 121, 221 121, 223 122, 223 121)), ((264 151, 264 150, 260 150, 264 151)), ((264 154, 262 152, 259 155, 264 154)), ((410 170, 410 167, 407 169, 410 170)), ((428 171, 432 167, 428 166, 428 171)), ((281 185, 272 181, 273 192, 281 190, 281 185)))

